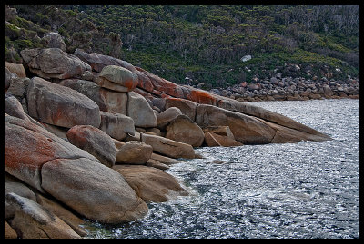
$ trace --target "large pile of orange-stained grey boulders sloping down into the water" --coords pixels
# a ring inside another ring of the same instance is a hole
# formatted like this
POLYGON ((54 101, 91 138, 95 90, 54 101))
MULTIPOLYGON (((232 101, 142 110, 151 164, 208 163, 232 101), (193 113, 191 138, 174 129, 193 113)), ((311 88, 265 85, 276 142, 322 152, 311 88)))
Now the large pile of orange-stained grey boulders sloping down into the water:
POLYGON ((5 236, 83 239, 83 220, 143 218, 187 195, 168 174, 201 146, 330 140, 276 112, 103 54, 21 52, 5 63, 5 236))

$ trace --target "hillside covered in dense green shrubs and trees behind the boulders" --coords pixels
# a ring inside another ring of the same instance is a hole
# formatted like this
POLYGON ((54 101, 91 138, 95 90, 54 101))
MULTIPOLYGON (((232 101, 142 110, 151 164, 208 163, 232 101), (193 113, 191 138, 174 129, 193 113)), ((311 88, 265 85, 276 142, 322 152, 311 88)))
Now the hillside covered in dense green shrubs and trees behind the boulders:
POLYGON ((5 59, 6 48, 41 46, 35 34, 52 30, 65 38, 69 53, 80 47, 111 55, 173 83, 203 88, 275 73, 359 77, 359 5, 10 6, 17 16, 9 23, 25 32, 9 25, 7 34, 5 28, 5 59), (247 55, 251 59, 242 61, 247 55))

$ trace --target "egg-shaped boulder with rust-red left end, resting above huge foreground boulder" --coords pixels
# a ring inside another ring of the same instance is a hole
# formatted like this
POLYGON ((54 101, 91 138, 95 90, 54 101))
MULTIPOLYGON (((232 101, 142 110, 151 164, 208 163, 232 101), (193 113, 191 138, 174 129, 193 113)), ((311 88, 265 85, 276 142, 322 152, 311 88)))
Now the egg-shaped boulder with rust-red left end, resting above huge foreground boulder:
POLYGON ((116 147, 106 132, 91 125, 75 125, 66 133, 69 142, 94 155, 102 164, 112 167, 116 160, 116 147))

